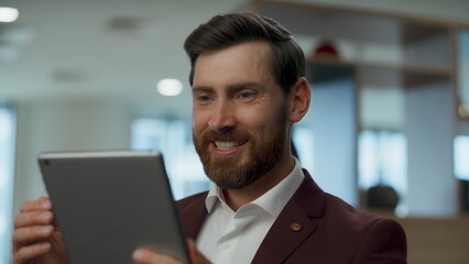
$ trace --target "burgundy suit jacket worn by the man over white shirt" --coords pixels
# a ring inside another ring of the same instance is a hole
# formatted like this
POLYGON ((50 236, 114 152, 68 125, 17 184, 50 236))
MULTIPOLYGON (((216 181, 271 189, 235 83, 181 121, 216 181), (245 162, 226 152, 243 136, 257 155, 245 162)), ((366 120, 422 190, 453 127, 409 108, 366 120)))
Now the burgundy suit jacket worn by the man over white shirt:
MULTIPOLYGON (((394 220, 359 212, 305 179, 269 230, 252 263, 406 263, 406 239, 394 220)), ((207 217, 207 193, 177 202, 188 238, 207 217)))

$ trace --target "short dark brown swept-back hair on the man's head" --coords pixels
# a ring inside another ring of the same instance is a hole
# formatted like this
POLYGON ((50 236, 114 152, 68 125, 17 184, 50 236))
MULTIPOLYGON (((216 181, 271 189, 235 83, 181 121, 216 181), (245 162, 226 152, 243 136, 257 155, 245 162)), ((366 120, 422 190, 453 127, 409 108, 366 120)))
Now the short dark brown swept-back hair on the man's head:
POLYGON ((272 19, 254 13, 229 13, 211 18, 187 36, 184 50, 190 58, 189 82, 200 54, 248 41, 264 41, 272 47, 271 70, 285 94, 305 76, 305 55, 292 34, 272 19))

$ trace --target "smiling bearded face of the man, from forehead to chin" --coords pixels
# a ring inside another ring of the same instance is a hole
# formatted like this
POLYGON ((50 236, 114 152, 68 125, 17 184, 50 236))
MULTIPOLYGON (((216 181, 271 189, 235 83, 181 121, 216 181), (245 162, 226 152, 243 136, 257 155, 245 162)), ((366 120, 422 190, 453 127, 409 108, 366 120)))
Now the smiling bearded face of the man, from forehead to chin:
POLYGON ((239 189, 287 153, 287 100, 269 68, 268 43, 201 54, 193 85, 194 143, 208 177, 239 189))

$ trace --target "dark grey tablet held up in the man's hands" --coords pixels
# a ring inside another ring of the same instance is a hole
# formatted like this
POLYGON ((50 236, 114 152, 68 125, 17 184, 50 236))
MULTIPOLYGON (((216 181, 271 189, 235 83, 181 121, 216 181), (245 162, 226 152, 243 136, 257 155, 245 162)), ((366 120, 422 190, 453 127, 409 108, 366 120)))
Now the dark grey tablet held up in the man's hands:
POLYGON ((39 163, 72 264, 129 264, 138 248, 189 263, 159 152, 41 153, 39 163))

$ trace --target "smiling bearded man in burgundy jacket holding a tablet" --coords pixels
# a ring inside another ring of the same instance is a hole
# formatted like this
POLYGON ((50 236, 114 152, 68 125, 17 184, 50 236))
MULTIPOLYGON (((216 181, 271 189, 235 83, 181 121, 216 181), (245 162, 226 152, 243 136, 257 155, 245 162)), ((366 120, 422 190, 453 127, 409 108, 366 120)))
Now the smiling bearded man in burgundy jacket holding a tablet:
MULTIPOLYGON (((193 263, 406 262, 396 222, 325 194, 292 156, 292 125, 306 114, 310 88, 304 54, 288 31, 255 14, 217 15, 184 47, 192 63, 194 143, 216 184, 178 201, 193 263)), ((52 222, 47 198, 23 204, 17 264, 65 262, 52 222)), ((177 263, 145 249, 133 260, 177 263)))

